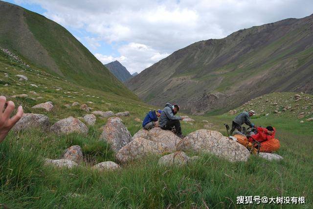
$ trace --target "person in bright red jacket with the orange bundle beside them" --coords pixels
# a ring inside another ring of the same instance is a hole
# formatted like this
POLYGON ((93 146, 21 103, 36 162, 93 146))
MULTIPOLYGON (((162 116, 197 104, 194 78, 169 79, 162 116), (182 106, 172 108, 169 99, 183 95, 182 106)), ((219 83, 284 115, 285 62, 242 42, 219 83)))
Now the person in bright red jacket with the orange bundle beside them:
POLYGON ((274 152, 280 148, 278 139, 275 139, 276 129, 272 126, 257 127, 257 134, 249 136, 248 140, 260 143, 260 152, 274 152))

